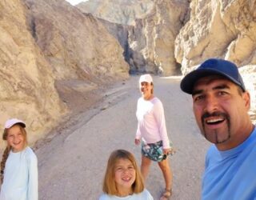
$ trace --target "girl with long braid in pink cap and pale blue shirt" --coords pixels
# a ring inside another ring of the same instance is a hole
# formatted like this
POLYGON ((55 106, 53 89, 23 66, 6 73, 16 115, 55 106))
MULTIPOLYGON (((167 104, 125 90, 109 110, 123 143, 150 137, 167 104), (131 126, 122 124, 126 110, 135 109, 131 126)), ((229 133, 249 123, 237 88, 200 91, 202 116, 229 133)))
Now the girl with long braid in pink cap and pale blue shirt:
POLYGON ((16 118, 5 124, 2 138, 7 146, 1 162, 0 200, 38 200, 38 160, 27 146, 25 127, 16 118))

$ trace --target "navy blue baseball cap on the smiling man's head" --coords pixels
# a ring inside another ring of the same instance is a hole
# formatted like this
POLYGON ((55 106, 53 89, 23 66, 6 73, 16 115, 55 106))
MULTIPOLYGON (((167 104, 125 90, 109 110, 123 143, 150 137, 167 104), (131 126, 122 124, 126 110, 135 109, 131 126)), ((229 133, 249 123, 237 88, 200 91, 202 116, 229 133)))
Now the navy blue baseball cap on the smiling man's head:
POLYGON ((192 94, 194 83, 197 82, 199 78, 214 74, 229 79, 231 82, 234 82, 234 84, 240 86, 243 91, 246 91, 238 67, 233 62, 217 58, 210 58, 202 62, 201 66, 198 66, 196 70, 186 74, 186 76, 182 78, 181 89, 188 94, 192 94))

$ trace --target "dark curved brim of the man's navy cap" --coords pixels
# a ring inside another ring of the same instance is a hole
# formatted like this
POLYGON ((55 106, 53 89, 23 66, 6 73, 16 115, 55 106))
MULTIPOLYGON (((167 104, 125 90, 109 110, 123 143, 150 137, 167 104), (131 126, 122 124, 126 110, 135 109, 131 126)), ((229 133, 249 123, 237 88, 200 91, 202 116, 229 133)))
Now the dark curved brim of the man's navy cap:
MULTIPOLYGON (((186 74, 186 76, 182 79, 182 82, 180 85, 182 91, 188 94, 192 94, 194 90, 194 84, 198 81, 198 79, 206 76, 210 76, 210 75, 221 75, 225 78, 230 79, 230 81, 234 82, 238 86, 241 86, 241 84, 236 80, 234 80, 234 78, 222 73, 221 71, 213 70, 213 69, 198 69, 190 72, 189 74, 186 74)), ((243 87, 242 89, 244 90, 243 87)))

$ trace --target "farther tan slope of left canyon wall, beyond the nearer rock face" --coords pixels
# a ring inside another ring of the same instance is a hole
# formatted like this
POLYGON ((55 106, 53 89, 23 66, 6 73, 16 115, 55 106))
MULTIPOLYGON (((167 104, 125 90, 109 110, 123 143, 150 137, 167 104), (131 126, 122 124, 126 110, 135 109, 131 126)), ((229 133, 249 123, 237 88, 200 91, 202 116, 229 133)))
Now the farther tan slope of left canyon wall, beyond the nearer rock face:
POLYGON ((26 3, 32 11, 34 38, 58 80, 82 78, 90 83, 103 77, 104 81, 127 78, 129 66, 122 47, 92 15, 62 0, 26 3))

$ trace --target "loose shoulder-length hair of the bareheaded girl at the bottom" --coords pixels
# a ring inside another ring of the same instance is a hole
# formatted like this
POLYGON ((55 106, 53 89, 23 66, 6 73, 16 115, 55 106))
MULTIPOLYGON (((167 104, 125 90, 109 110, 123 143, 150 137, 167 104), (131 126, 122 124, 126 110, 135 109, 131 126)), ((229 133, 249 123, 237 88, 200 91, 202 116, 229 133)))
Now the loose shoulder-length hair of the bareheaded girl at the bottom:
POLYGON ((134 166, 135 170, 135 181, 132 185, 132 190, 135 194, 141 193, 144 190, 144 182, 142 174, 138 169, 134 155, 127 150, 114 150, 110 154, 110 158, 107 162, 105 178, 103 181, 102 190, 106 194, 117 195, 118 189, 114 181, 114 166, 120 159, 128 159, 134 166))

